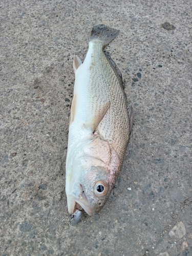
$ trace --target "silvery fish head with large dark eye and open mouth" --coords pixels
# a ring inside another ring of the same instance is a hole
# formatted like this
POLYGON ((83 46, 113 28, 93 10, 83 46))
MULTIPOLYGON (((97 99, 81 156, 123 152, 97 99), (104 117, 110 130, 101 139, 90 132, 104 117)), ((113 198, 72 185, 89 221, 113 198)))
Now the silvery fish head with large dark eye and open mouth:
POLYGON ((108 166, 105 166, 99 159, 87 157, 83 158, 83 161, 77 161, 73 168, 76 170, 73 174, 77 175, 72 175, 66 187, 70 214, 75 211, 76 203, 88 215, 97 214, 104 206, 114 186, 108 166))

